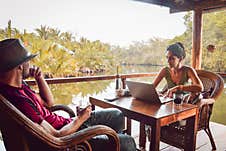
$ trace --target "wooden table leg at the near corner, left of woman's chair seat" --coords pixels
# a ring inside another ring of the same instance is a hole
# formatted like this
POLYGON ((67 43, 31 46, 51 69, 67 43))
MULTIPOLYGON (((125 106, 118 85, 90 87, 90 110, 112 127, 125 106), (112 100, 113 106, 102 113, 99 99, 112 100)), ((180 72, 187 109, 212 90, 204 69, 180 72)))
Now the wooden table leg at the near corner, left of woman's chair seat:
POLYGON ((159 144, 160 144, 160 123, 159 121, 155 121, 151 125, 151 142, 149 151, 159 151, 159 144))

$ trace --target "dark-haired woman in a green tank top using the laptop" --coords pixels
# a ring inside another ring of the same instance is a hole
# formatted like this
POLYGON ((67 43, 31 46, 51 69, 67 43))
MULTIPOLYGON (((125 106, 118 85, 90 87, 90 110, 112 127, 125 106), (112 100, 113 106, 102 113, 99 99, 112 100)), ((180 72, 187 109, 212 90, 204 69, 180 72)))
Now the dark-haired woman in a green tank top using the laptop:
MULTIPOLYGON (((192 100, 197 93, 203 90, 203 85, 196 71, 192 67, 183 65, 186 56, 184 46, 177 42, 169 45, 166 49, 166 59, 169 66, 163 67, 154 79, 154 86, 157 87, 163 78, 166 79, 167 88, 162 93, 173 97, 174 93, 191 93, 192 100), (191 83, 188 84, 189 79, 191 83)), ((192 102, 191 102, 192 103, 192 102)))

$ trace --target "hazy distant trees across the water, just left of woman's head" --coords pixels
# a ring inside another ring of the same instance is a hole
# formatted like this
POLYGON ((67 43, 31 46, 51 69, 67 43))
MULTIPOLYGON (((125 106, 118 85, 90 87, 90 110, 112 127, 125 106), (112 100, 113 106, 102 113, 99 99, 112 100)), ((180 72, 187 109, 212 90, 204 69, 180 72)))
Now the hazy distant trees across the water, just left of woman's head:
POLYGON ((141 65, 165 64, 165 48, 168 40, 153 38, 148 42, 134 42, 128 48, 113 47, 113 53, 120 63, 141 65))

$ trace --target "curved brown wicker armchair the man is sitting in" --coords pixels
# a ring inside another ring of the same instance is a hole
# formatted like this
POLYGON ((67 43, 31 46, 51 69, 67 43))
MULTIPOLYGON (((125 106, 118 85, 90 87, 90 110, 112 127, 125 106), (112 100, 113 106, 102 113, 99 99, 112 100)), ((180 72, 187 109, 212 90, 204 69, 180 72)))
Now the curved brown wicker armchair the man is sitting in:
MULTIPOLYGON (((55 106, 53 110, 62 109, 74 113, 65 106, 55 106)), ((55 137, 40 125, 32 122, 6 98, 0 95, 0 128, 7 151, 56 151, 75 150, 91 151, 88 140, 97 135, 107 135, 112 151, 119 151, 119 138, 114 130, 107 126, 93 126, 64 137, 55 137)))

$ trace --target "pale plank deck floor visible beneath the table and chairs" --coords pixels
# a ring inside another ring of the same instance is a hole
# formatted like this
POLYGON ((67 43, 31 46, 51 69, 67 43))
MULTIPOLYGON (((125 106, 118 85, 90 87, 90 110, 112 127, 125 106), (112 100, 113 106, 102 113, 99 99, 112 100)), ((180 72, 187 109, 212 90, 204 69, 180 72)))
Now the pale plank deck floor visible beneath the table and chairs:
MULTIPOLYGON (((210 123, 211 130, 213 132, 214 140, 217 146, 217 151, 226 151, 226 126, 217 123, 210 123)), ((132 122, 132 136, 135 138, 135 141, 138 142, 138 132, 139 132, 138 122, 132 122)), ((137 143, 138 146, 138 143, 137 143)), ((147 142, 146 151, 148 151, 148 142, 147 142)), ((165 143, 160 143, 161 151, 180 151, 180 149, 169 146, 165 143)), ((197 134, 197 151, 211 151, 211 144, 209 142, 209 138, 204 131, 200 131, 197 134)), ((5 151, 4 144, 0 137, 0 151, 5 151)), ((145 151, 143 149, 142 151, 145 151)))

